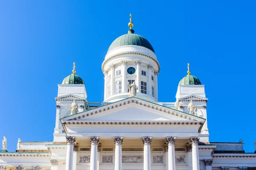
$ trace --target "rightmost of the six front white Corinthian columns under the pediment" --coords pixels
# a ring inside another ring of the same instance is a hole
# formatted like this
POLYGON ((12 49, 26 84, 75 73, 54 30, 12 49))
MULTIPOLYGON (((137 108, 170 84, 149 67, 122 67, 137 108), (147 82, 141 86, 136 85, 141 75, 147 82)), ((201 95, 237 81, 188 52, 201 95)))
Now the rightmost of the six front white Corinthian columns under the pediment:
POLYGON ((192 145, 192 167, 193 170, 199 170, 200 165, 199 165, 199 152, 198 152, 198 142, 199 142, 200 137, 197 136, 191 136, 189 141, 191 142, 192 145))

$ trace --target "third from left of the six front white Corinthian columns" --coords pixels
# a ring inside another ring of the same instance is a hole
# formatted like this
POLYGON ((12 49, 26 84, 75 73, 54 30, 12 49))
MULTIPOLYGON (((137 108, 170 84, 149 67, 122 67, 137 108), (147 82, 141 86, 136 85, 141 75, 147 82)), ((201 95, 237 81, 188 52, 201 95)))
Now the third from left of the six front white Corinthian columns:
POLYGON ((123 137, 114 136, 115 142, 115 170, 122 170, 122 141, 123 137))

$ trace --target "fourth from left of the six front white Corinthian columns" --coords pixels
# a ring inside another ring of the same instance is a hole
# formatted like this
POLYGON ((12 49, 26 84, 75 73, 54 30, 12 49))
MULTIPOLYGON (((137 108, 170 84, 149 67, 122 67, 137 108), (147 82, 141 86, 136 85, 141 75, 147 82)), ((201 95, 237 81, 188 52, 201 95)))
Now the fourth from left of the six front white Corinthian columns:
POLYGON ((150 145, 152 137, 143 136, 142 141, 144 145, 144 170, 151 170, 150 145))

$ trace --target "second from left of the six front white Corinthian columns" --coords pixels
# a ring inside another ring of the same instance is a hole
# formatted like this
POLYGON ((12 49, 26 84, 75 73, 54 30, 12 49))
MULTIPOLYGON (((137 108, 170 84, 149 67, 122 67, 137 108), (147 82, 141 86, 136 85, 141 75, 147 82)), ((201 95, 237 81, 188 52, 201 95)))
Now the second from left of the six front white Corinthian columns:
POLYGON ((97 170, 99 136, 90 136, 91 155, 90 170, 97 170))

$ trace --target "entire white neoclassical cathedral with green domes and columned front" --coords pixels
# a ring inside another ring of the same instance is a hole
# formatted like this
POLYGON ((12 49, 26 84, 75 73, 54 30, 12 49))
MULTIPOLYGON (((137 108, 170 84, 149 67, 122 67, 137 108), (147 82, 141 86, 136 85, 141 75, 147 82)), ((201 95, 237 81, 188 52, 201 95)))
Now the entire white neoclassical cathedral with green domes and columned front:
POLYGON ((19 141, 9 152, 4 139, 0 170, 256 170, 242 141, 209 141, 208 98, 189 65, 176 101, 158 101, 160 63, 128 25, 102 63, 104 101, 87 101, 74 63, 58 84, 53 141, 19 141))

